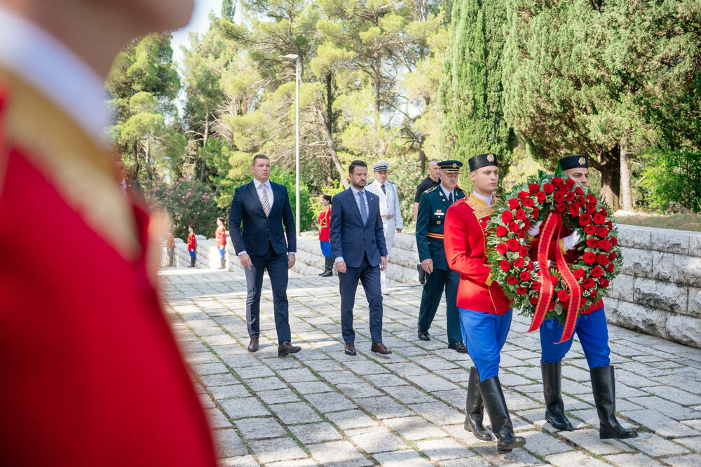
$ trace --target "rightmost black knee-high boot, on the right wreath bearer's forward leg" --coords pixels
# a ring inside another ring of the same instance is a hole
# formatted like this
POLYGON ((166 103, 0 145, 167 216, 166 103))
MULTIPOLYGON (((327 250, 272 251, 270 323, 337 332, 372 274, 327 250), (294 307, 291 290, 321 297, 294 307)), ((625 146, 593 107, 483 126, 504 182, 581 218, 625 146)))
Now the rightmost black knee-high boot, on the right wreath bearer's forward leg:
POLYGON ((597 405, 597 414, 599 414, 599 438, 602 440, 636 438, 638 433, 626 430, 620 426, 618 419, 615 418, 613 367, 611 365, 596 367, 589 370, 589 373, 592 375, 594 403, 597 405))

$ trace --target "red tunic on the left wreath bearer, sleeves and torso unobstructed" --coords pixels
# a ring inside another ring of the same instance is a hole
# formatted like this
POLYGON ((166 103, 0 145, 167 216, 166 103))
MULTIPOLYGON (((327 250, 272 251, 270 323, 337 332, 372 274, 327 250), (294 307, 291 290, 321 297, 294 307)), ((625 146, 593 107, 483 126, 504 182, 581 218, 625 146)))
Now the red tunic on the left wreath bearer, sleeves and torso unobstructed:
POLYGON ((448 266, 460 273, 460 308, 503 315, 511 308, 501 285, 491 280, 491 268, 485 255, 486 220, 491 207, 470 195, 448 208, 443 243, 448 266))

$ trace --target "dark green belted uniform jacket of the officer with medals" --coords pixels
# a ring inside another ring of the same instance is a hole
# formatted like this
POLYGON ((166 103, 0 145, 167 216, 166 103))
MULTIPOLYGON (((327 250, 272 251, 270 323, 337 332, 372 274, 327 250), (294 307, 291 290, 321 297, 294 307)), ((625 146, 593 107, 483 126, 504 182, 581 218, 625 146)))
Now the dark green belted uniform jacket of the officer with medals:
MULTIPOLYGON (((458 187, 455 188, 454 192, 454 201, 465 198, 465 193, 458 187)), ((450 208, 448 198, 445 197, 440 185, 437 185, 421 194, 421 201, 418 202, 418 214, 416 215, 418 260, 433 259, 433 268, 442 271, 449 269, 443 245, 443 228, 448 208, 450 208)))

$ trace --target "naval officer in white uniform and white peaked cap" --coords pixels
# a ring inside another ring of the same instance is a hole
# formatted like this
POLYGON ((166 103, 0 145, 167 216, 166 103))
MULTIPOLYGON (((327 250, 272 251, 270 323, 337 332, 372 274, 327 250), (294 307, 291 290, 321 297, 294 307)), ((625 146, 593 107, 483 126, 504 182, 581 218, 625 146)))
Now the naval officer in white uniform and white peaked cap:
MULTIPOLYGON (((382 228, 385 231, 388 257, 392 251, 395 232, 401 232, 404 228, 404 219, 402 219, 402 212, 399 207, 397 185, 387 180, 387 170, 389 168, 390 164, 387 161, 374 163, 372 170, 374 171, 375 180, 365 187, 367 191, 372 191, 372 193, 380 197, 380 215, 382 217, 382 228)), ((380 287, 383 294, 388 292, 385 271, 380 271, 380 287)))

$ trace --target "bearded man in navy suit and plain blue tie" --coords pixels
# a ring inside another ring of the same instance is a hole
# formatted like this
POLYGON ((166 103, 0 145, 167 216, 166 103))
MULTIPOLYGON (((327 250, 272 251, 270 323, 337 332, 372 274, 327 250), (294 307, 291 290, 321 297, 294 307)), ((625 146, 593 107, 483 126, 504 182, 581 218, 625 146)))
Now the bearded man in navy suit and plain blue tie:
POLYGON ((341 331, 345 352, 355 355, 353 305, 358 279, 370 311, 373 352, 392 353, 382 344, 380 271, 387 267, 387 248, 380 216, 380 198, 365 190, 367 164, 353 161, 348 168, 351 187, 334 196, 331 204, 331 251, 336 258, 341 288, 341 331))

